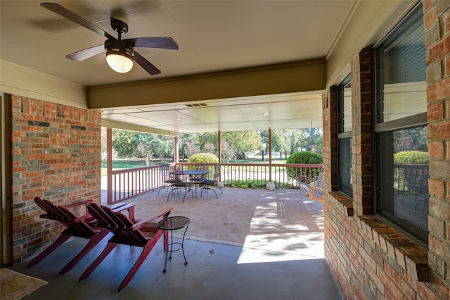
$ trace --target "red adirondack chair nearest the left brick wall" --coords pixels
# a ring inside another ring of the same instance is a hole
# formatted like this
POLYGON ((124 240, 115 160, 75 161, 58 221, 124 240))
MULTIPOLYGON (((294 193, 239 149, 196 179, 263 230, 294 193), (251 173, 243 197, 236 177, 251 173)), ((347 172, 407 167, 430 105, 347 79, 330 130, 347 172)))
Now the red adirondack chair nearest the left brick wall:
MULTIPOLYGON (((82 251, 80 251, 75 258, 72 258, 72 261, 65 265, 58 276, 64 275, 65 273, 68 273, 79 261, 81 261, 81 259, 86 256, 86 254, 88 254, 89 251, 91 251, 91 249, 93 249, 96 244, 103 239, 103 237, 108 235, 108 230, 105 228, 91 225, 91 222, 95 220, 91 215, 86 213, 85 215, 78 216, 71 211, 72 208, 77 206, 88 206, 92 203, 92 200, 81 201, 77 204, 68 206, 56 206, 53 202, 46 199, 41 199, 39 197, 35 197, 34 202, 36 202, 36 204, 46 212, 40 215, 41 218, 56 220, 65 225, 67 228, 61 232, 60 236, 55 242, 53 242, 53 244, 42 251, 41 254, 33 258, 33 260, 28 263, 27 268, 41 262, 71 237, 82 237, 84 239, 89 239, 89 242, 86 246, 84 246, 82 251)), ((134 204, 120 204, 115 206, 115 209, 120 211, 128 209, 129 213, 134 215, 134 204)))

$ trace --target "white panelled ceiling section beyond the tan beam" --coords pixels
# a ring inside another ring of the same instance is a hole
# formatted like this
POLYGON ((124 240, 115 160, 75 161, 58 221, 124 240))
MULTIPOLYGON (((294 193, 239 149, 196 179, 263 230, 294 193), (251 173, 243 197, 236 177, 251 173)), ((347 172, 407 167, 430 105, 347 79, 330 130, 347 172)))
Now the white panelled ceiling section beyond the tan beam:
POLYGON ((104 109, 102 118, 165 132, 322 127, 321 98, 297 93, 104 109), (319 107, 318 107, 319 104, 319 107), (192 106, 194 105, 194 106, 192 106))

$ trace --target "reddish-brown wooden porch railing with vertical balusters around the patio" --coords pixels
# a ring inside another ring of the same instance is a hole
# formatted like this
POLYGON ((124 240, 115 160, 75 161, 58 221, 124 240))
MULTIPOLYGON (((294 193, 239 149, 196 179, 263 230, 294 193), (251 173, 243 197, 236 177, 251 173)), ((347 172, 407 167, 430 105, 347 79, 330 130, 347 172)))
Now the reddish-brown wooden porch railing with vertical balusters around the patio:
MULTIPOLYGON (((211 170, 214 163, 172 163, 169 170, 211 170)), ((298 189, 300 174, 318 175, 321 164, 269 164, 269 163, 221 163, 219 181, 231 186, 233 181, 249 180, 257 185, 274 182, 276 187, 298 189)), ((108 187, 108 204, 164 187, 164 174, 160 165, 113 170, 111 187, 108 187)))

